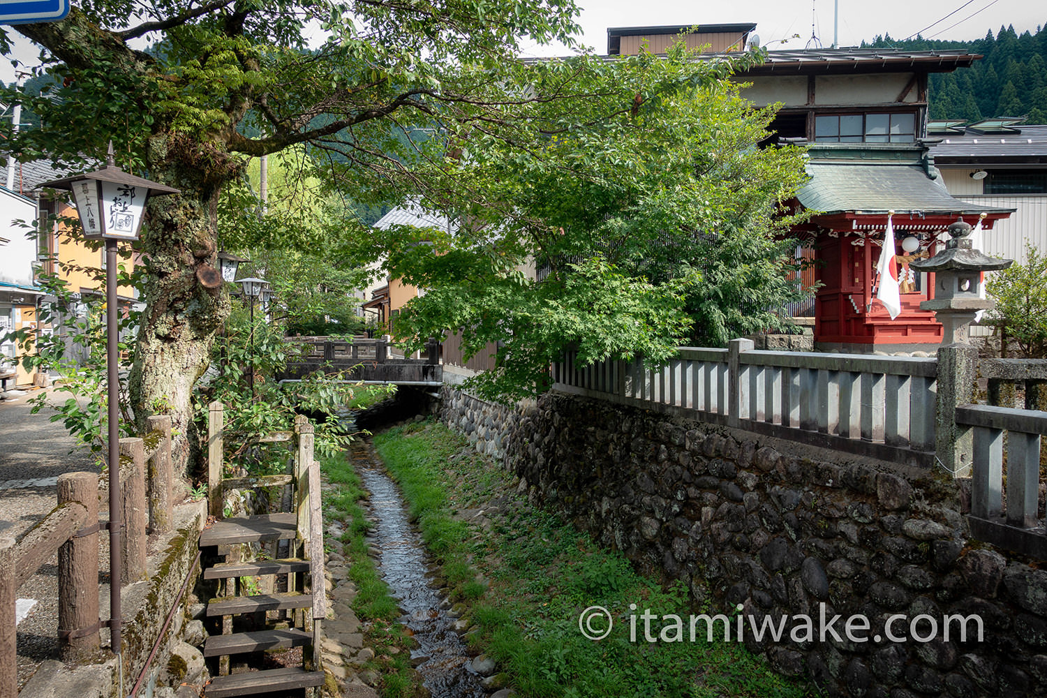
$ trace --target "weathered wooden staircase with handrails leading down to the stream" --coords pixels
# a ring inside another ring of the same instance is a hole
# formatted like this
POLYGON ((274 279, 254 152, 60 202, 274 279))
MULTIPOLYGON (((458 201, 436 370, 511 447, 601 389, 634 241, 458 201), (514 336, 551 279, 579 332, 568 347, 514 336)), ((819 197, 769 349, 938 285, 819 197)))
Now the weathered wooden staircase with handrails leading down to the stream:
POLYGON ((200 535, 201 560, 214 561, 204 566, 203 579, 218 582, 218 595, 210 600, 206 612, 209 623, 205 626, 213 634, 203 649, 214 678, 204 686, 203 695, 226 698, 286 694, 320 686, 325 680, 320 622, 327 613, 327 594, 313 427, 306 418, 298 416, 293 435, 263 440, 296 443, 290 473, 258 478, 221 477, 220 403, 211 404, 209 431, 213 515, 221 514, 224 491, 230 488, 291 486, 293 511, 218 520, 200 535), (241 559, 243 550, 254 548, 264 551, 264 559, 241 559), (263 587, 266 592, 261 592, 263 587), (255 667, 266 662, 266 653, 297 647, 303 648, 302 666, 255 667))

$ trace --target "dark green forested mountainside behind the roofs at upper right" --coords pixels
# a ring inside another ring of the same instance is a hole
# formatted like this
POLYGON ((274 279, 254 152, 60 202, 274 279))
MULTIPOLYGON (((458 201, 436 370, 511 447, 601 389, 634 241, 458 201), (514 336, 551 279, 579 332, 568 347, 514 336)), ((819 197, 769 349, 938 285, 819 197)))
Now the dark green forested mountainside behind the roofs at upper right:
POLYGON ((1019 36, 1013 26, 989 30, 977 41, 894 41, 888 35, 864 48, 933 50, 962 48, 984 58, 971 68, 932 73, 928 87, 931 118, 977 121, 993 116, 1027 116, 1047 123, 1047 27, 1019 36))

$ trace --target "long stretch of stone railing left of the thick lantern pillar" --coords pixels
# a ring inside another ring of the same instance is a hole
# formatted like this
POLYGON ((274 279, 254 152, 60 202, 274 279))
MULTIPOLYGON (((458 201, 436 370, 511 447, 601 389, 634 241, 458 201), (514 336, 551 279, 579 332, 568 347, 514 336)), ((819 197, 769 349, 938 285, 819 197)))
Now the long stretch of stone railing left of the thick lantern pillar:
POLYGON ((935 449, 934 359, 681 347, 661 368, 641 360, 553 365, 556 389, 645 408, 696 413, 850 453, 930 466, 935 449))

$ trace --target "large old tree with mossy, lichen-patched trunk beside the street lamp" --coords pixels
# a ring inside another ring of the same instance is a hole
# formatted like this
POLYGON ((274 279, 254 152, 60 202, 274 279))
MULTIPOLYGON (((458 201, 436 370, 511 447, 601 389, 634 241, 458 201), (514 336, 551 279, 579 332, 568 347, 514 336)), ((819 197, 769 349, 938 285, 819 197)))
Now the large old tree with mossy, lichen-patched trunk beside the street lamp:
POLYGON ((139 426, 162 398, 176 457, 188 454, 192 388, 229 312, 199 272, 215 264, 219 200, 246 156, 305 144, 358 203, 398 200, 442 157, 414 135, 511 123, 500 71, 525 38, 573 45, 575 14, 571 0, 86 0, 61 22, 0 28, 0 47, 13 31, 39 44, 52 78, 42 96, 7 91, 41 122, 9 141, 19 157, 83 167, 113 139, 120 165, 180 189, 150 204, 139 243, 139 426))

